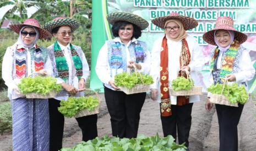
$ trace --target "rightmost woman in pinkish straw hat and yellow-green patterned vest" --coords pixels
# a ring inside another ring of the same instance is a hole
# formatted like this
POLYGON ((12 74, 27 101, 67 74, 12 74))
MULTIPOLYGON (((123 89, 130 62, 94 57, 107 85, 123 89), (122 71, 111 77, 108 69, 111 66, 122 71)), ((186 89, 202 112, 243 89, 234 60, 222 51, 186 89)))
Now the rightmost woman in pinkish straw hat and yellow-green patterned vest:
MULTIPOLYGON (((210 61, 213 83, 235 82, 247 88, 247 81, 255 74, 248 51, 242 47, 247 36, 233 28, 233 19, 227 16, 217 18, 214 30, 204 33, 205 42, 216 45, 210 61)), ((208 95, 205 108, 210 111, 213 103, 210 103, 208 95)), ((243 104, 238 107, 215 104, 220 126, 220 150, 238 150, 237 125, 243 111, 243 104)))

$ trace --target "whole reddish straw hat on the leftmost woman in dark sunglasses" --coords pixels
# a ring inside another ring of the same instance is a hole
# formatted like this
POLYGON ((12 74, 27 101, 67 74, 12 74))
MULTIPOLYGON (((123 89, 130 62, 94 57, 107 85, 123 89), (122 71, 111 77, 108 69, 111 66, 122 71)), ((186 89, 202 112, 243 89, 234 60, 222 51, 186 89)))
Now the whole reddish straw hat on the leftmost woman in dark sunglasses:
POLYGON ((41 28, 41 25, 39 24, 39 21, 35 20, 35 19, 27 19, 23 22, 23 24, 13 24, 13 25, 9 25, 10 30, 16 32, 16 33, 20 33, 20 30, 23 26, 33 26, 36 27, 39 31, 39 39, 47 39, 49 37, 51 37, 51 33, 44 30, 43 28, 41 28))

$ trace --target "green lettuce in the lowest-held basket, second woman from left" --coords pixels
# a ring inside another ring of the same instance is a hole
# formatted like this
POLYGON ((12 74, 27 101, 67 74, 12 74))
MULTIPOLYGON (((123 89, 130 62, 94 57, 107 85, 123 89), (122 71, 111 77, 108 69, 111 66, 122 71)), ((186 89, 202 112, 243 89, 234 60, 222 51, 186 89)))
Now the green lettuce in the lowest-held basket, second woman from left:
POLYGON ((74 117, 79 111, 88 109, 92 111, 94 108, 99 106, 99 100, 97 97, 68 97, 68 100, 61 101, 61 107, 58 107, 58 111, 61 112, 65 117, 74 117))

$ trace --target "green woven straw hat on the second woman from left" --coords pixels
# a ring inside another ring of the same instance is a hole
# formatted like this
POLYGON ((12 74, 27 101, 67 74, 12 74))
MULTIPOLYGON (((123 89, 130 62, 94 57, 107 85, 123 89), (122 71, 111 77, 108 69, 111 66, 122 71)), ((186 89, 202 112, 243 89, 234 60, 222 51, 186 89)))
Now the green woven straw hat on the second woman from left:
POLYGON ((52 21, 46 22, 46 24, 43 25, 43 28, 45 28, 45 30, 47 30, 48 32, 52 33, 53 28, 59 26, 69 26, 71 31, 74 32, 80 26, 80 22, 72 18, 59 17, 53 19, 52 21))

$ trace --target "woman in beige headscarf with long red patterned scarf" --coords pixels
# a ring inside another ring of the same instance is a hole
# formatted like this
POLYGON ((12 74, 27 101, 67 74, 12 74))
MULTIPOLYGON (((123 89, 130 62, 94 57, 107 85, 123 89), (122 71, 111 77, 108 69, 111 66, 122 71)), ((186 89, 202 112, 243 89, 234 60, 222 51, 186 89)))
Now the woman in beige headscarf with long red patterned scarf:
POLYGON ((155 41, 151 51, 150 74, 154 79, 151 98, 160 102, 164 136, 172 135, 176 139, 178 132, 179 144, 185 142, 188 147, 192 106, 193 102, 199 101, 199 96, 170 96, 168 86, 177 77, 186 77, 186 71, 194 78, 195 71, 200 71, 203 66, 201 49, 197 41, 186 32, 197 27, 198 22, 171 13, 155 18, 152 23, 164 29, 165 35, 155 41))

